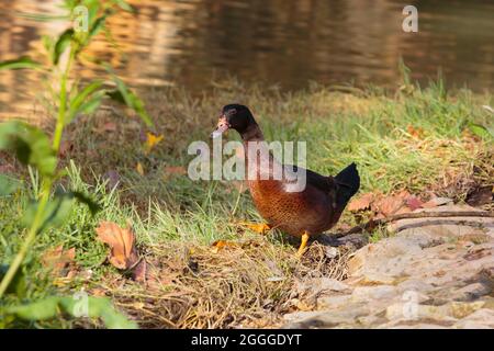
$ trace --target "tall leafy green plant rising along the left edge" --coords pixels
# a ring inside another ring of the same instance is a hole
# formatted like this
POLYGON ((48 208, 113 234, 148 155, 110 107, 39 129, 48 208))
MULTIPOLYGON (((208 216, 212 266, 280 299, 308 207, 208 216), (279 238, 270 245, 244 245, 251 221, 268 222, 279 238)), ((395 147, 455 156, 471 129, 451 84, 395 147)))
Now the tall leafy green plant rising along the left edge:
MULTIPOLYGON (((23 122, 10 121, 0 124, 0 150, 13 152, 21 163, 37 170, 42 184, 37 199, 34 199, 25 211, 23 224, 27 231, 18 254, 1 280, 0 297, 15 280, 16 272, 36 236, 50 226, 64 224, 70 215, 74 202, 79 201, 88 205, 92 213, 98 211, 98 205, 82 193, 53 193, 54 184, 65 176, 65 171, 57 169, 57 155, 67 124, 74 123, 79 114, 97 111, 104 99, 113 99, 134 110, 148 127, 153 125, 143 101, 125 86, 108 64, 93 59, 108 72, 103 79, 86 83, 70 79, 75 67, 82 65, 80 58, 94 36, 101 31, 108 31, 105 26, 108 18, 122 10, 132 11, 132 8, 123 0, 65 0, 64 8, 67 14, 61 18, 46 19, 31 15, 32 19, 41 21, 60 19, 70 21, 69 27, 58 37, 43 37, 45 63, 25 56, 0 63, 0 69, 35 69, 41 72, 43 79, 57 86, 57 89, 50 92, 50 99, 57 102, 53 112, 56 124, 52 138, 42 129, 23 122), (83 18, 80 18, 81 15, 83 18), (86 25, 80 27, 79 22, 86 25)), ((0 196, 8 195, 14 190, 15 181, 0 177, 0 196)), ((52 301, 49 305, 63 307, 66 302, 52 301)))

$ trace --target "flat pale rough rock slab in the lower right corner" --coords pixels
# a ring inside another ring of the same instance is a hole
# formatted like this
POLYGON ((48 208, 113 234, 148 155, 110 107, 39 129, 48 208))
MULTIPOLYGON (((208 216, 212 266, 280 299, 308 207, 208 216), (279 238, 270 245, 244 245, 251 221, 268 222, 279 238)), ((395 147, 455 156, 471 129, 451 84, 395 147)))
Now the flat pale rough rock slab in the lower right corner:
MULTIPOLYGON (((465 205, 419 210, 478 211, 465 205)), ((397 220, 353 252, 348 279, 321 279, 318 310, 288 328, 494 328, 494 218, 397 220)))

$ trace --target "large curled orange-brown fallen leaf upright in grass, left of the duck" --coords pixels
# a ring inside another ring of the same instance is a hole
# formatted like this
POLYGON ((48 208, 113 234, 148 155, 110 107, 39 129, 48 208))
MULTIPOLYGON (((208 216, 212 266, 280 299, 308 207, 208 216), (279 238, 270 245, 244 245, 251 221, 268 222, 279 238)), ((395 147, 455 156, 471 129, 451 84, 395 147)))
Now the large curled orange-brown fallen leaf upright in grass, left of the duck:
POLYGON ((128 228, 121 228, 113 222, 101 222, 96 229, 98 239, 111 248, 109 261, 121 270, 133 268, 138 261, 134 246, 135 236, 128 228))

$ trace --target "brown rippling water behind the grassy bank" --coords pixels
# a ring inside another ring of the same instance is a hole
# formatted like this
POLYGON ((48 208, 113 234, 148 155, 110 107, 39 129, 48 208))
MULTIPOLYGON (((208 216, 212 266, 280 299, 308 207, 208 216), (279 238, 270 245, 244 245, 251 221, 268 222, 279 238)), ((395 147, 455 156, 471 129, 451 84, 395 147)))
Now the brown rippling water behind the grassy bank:
MULTIPOLYGON (((41 34, 63 22, 33 22, 19 12, 53 13, 59 1, 1 0, 0 59, 35 55, 41 34)), ((110 22, 120 53, 102 42, 90 54, 108 58, 134 87, 183 86, 200 93, 211 80, 296 90, 310 81, 396 87, 400 57, 413 78, 442 70, 447 83, 494 88, 493 0, 144 0, 136 15, 110 22), (402 9, 418 9, 418 33, 402 31, 402 9)), ((81 69, 81 77, 94 70, 81 69)), ((0 72, 0 117, 33 110, 43 90, 32 73, 0 72)))

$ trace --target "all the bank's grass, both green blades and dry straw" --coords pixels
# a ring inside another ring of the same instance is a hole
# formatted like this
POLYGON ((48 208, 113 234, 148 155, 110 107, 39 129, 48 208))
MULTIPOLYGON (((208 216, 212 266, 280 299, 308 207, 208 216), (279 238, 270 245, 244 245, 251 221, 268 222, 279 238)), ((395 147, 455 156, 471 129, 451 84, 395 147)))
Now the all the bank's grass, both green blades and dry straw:
MULTIPOLYGON (((396 93, 378 89, 344 93, 316 86, 282 93, 237 82, 220 86, 199 99, 178 88, 145 92, 157 125, 154 132, 165 136, 149 155, 143 150, 145 129, 137 117, 114 106, 67 127, 63 158, 68 177, 58 186, 92 194, 103 210, 91 217, 77 205, 66 226, 40 236, 23 267, 25 295, 9 294, 3 306, 83 288, 110 296, 142 327, 176 328, 273 327, 284 313, 313 308, 294 286, 323 275, 344 279, 351 248, 333 257, 315 242, 299 261, 296 248, 279 233, 260 237, 235 225, 261 220, 248 192, 231 182, 194 182, 169 171, 187 169, 192 158, 188 145, 207 140, 221 106, 229 102, 249 105, 268 140, 306 141, 307 166, 315 171, 334 174, 357 162, 361 193, 406 189, 423 197, 435 193, 461 202, 471 189, 493 182, 493 140, 469 129, 471 123, 492 128, 492 113, 482 107, 494 105, 492 94, 449 93, 441 83, 396 93), (137 172, 137 162, 144 176, 137 172), (114 189, 109 173, 119 180, 114 189), (105 263, 108 250, 94 234, 100 220, 132 225, 153 275, 147 286, 105 263), (215 240, 235 245, 214 252, 215 240), (76 249, 71 279, 55 278, 41 263, 43 253, 58 245, 76 249)), ((228 138, 238 139, 233 134, 228 138)), ((23 180, 18 192, 0 199, 0 263, 5 264, 19 250, 24 235, 20 217, 40 185, 36 174, 20 169, 9 156, 0 159, 0 167, 23 180)), ((346 212, 332 231, 359 220, 346 212)), ((373 234, 371 240, 382 236, 373 234)), ((0 318, 0 324, 100 326, 98 320, 61 317, 31 322, 0 318)))

